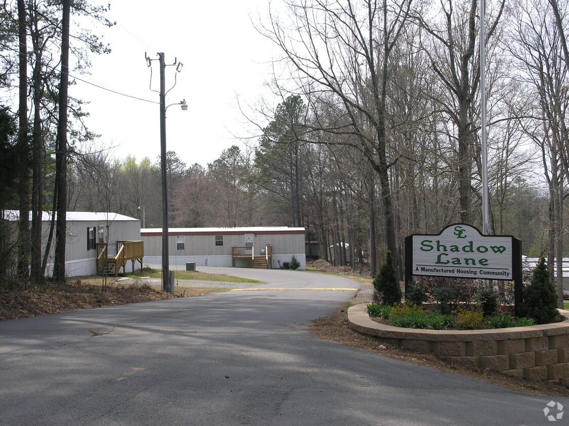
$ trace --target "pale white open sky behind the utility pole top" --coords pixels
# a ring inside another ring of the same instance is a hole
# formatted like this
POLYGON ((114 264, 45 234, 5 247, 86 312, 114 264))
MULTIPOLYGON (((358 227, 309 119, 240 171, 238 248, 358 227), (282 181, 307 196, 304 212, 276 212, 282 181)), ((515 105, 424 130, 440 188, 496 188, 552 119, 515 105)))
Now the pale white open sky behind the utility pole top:
MULTIPOLYGON (((178 105, 167 109, 167 149, 188 165, 206 166, 231 145, 234 135, 249 136, 237 98, 254 104, 269 97, 265 83, 271 78, 273 45, 251 24, 260 12, 266 15, 268 0, 116 1, 108 17, 112 28, 94 30, 109 43, 112 53, 92 57, 91 75, 85 80, 98 86, 156 103, 111 93, 77 81, 73 97, 89 101, 86 124, 101 134, 99 141, 113 146, 113 156, 149 157, 160 154, 158 52, 166 64, 183 63, 167 105, 185 99, 188 110, 178 105), (147 67, 145 52, 152 61, 147 67)), ((92 0, 94 4, 96 0, 92 0)), ((76 73, 73 75, 77 76, 76 73)), ((73 76, 72 75, 72 76, 73 76)), ((166 67, 166 89, 174 85, 175 66, 166 67)), ((97 145, 98 146, 98 145, 97 145)))

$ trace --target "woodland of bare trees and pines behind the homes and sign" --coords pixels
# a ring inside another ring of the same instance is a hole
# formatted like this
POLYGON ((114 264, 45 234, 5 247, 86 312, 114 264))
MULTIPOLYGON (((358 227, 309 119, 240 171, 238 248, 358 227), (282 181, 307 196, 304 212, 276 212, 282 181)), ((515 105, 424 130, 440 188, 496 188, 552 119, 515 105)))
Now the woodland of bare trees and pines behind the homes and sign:
MULTIPOLYGON (((79 149, 97 135, 81 126, 81 101, 59 90, 68 86, 66 2, 17 3, 0 11, 8 93, 0 98, 0 210, 32 214, 18 240, 2 228, 0 276, 27 279, 30 270, 41 279, 40 211, 118 212, 161 227, 160 161, 79 149)), ((89 5, 71 1, 71 18, 111 24, 89 5)), ((454 222, 481 229, 479 2, 279 6, 257 22, 282 53, 270 82, 279 101, 246 113, 262 117, 251 119, 253 143, 206 167, 168 152, 170 226, 303 226, 322 258, 352 266, 365 258, 372 275, 387 250, 402 274, 411 233, 454 222)), ((491 233, 521 239, 527 256, 545 253, 558 282, 567 253, 568 13, 558 0, 486 3, 491 233)), ((107 49, 92 34, 71 40, 79 68, 107 49)))

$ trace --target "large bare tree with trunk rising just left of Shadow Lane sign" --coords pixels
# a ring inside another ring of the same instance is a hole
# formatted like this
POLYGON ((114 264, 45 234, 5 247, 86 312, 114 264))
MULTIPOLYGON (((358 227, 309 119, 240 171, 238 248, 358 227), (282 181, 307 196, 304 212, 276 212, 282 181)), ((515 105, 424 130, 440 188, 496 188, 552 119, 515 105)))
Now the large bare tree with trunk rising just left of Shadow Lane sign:
POLYGON ((390 55, 409 23, 412 0, 310 0, 287 3, 290 20, 270 16, 263 33, 278 45, 290 65, 291 80, 280 89, 307 99, 312 129, 337 137, 327 143, 358 149, 376 171, 384 210, 387 249, 397 259, 387 157, 386 96, 390 55), (323 97, 335 120, 321 115, 323 97))

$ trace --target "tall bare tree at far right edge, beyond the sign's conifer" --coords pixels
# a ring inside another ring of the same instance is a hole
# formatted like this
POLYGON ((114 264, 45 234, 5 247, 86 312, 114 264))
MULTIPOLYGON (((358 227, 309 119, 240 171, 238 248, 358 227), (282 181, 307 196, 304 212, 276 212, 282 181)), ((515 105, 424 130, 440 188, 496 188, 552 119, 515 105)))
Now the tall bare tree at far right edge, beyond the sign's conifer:
POLYGON ((518 79, 530 90, 535 124, 526 134, 539 146, 543 172, 549 186, 549 264, 556 264, 559 306, 563 306, 564 199, 567 197, 567 146, 569 111, 568 68, 563 51, 564 36, 558 30, 555 12, 542 2, 519 3, 516 27, 510 34, 509 51, 517 61, 518 79))

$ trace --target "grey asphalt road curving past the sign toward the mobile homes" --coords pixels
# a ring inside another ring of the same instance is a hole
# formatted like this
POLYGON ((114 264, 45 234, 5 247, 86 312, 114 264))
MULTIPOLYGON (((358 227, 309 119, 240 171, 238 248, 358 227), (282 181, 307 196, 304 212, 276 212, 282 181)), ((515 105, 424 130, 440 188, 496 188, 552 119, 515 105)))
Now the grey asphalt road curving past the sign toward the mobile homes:
POLYGON ((357 288, 354 281, 283 270, 209 270, 281 290, 0 322, 0 424, 569 422, 569 414, 554 423, 543 412, 552 399, 569 411, 567 398, 525 396, 312 337, 304 325, 355 291, 306 289, 357 288))

